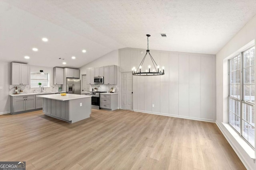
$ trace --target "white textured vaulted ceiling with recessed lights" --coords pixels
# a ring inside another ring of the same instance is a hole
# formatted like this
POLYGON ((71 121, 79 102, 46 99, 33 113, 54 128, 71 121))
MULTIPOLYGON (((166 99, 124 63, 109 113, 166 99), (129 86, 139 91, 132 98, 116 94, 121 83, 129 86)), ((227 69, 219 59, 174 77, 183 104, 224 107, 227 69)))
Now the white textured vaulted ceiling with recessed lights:
POLYGON ((216 54, 255 14, 256 0, 0 0, 0 61, 79 68, 146 34, 149 49, 216 54))

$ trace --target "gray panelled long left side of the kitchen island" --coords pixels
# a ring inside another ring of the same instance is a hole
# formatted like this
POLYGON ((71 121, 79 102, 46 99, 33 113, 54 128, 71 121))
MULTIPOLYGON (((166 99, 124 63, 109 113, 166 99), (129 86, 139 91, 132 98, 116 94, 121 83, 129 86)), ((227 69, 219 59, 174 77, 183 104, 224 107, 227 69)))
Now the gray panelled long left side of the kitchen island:
POLYGON ((43 111, 46 115, 70 121, 69 101, 43 98, 43 111))

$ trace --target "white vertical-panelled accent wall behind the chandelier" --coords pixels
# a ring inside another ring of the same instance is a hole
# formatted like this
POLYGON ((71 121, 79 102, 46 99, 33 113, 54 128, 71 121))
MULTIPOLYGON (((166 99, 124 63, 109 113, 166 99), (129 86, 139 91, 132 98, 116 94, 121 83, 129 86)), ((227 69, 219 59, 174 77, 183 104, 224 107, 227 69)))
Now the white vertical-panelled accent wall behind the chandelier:
MULTIPOLYGON (((145 53, 144 49, 119 49, 120 71, 138 67, 145 53)), ((215 122, 216 56, 156 50, 150 53, 161 68, 165 67, 165 74, 133 76, 134 111, 215 122)), ((145 59, 146 66, 152 65, 150 62, 145 59)))

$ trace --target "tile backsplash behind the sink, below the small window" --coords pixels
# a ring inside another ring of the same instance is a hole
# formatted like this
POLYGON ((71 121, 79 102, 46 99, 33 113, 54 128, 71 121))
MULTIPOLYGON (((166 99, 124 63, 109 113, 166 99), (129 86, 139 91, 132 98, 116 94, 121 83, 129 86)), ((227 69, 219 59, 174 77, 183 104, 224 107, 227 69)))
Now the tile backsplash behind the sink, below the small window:
MULTIPOLYGON (((40 93, 41 88, 30 88, 30 85, 10 85, 9 94, 14 94, 15 87, 17 86, 18 92, 23 90, 23 93, 40 93)), ((58 92, 60 85, 50 84, 50 87, 44 87, 44 92, 58 92)))

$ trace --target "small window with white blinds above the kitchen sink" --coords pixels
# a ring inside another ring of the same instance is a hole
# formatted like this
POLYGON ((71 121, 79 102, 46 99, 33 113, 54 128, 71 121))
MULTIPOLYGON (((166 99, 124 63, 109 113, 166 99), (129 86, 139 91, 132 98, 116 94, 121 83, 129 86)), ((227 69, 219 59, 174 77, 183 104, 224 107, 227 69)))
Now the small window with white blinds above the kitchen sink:
POLYGON ((38 83, 41 83, 41 86, 49 87, 48 73, 42 75, 40 72, 30 72, 30 87, 39 87, 38 83))

